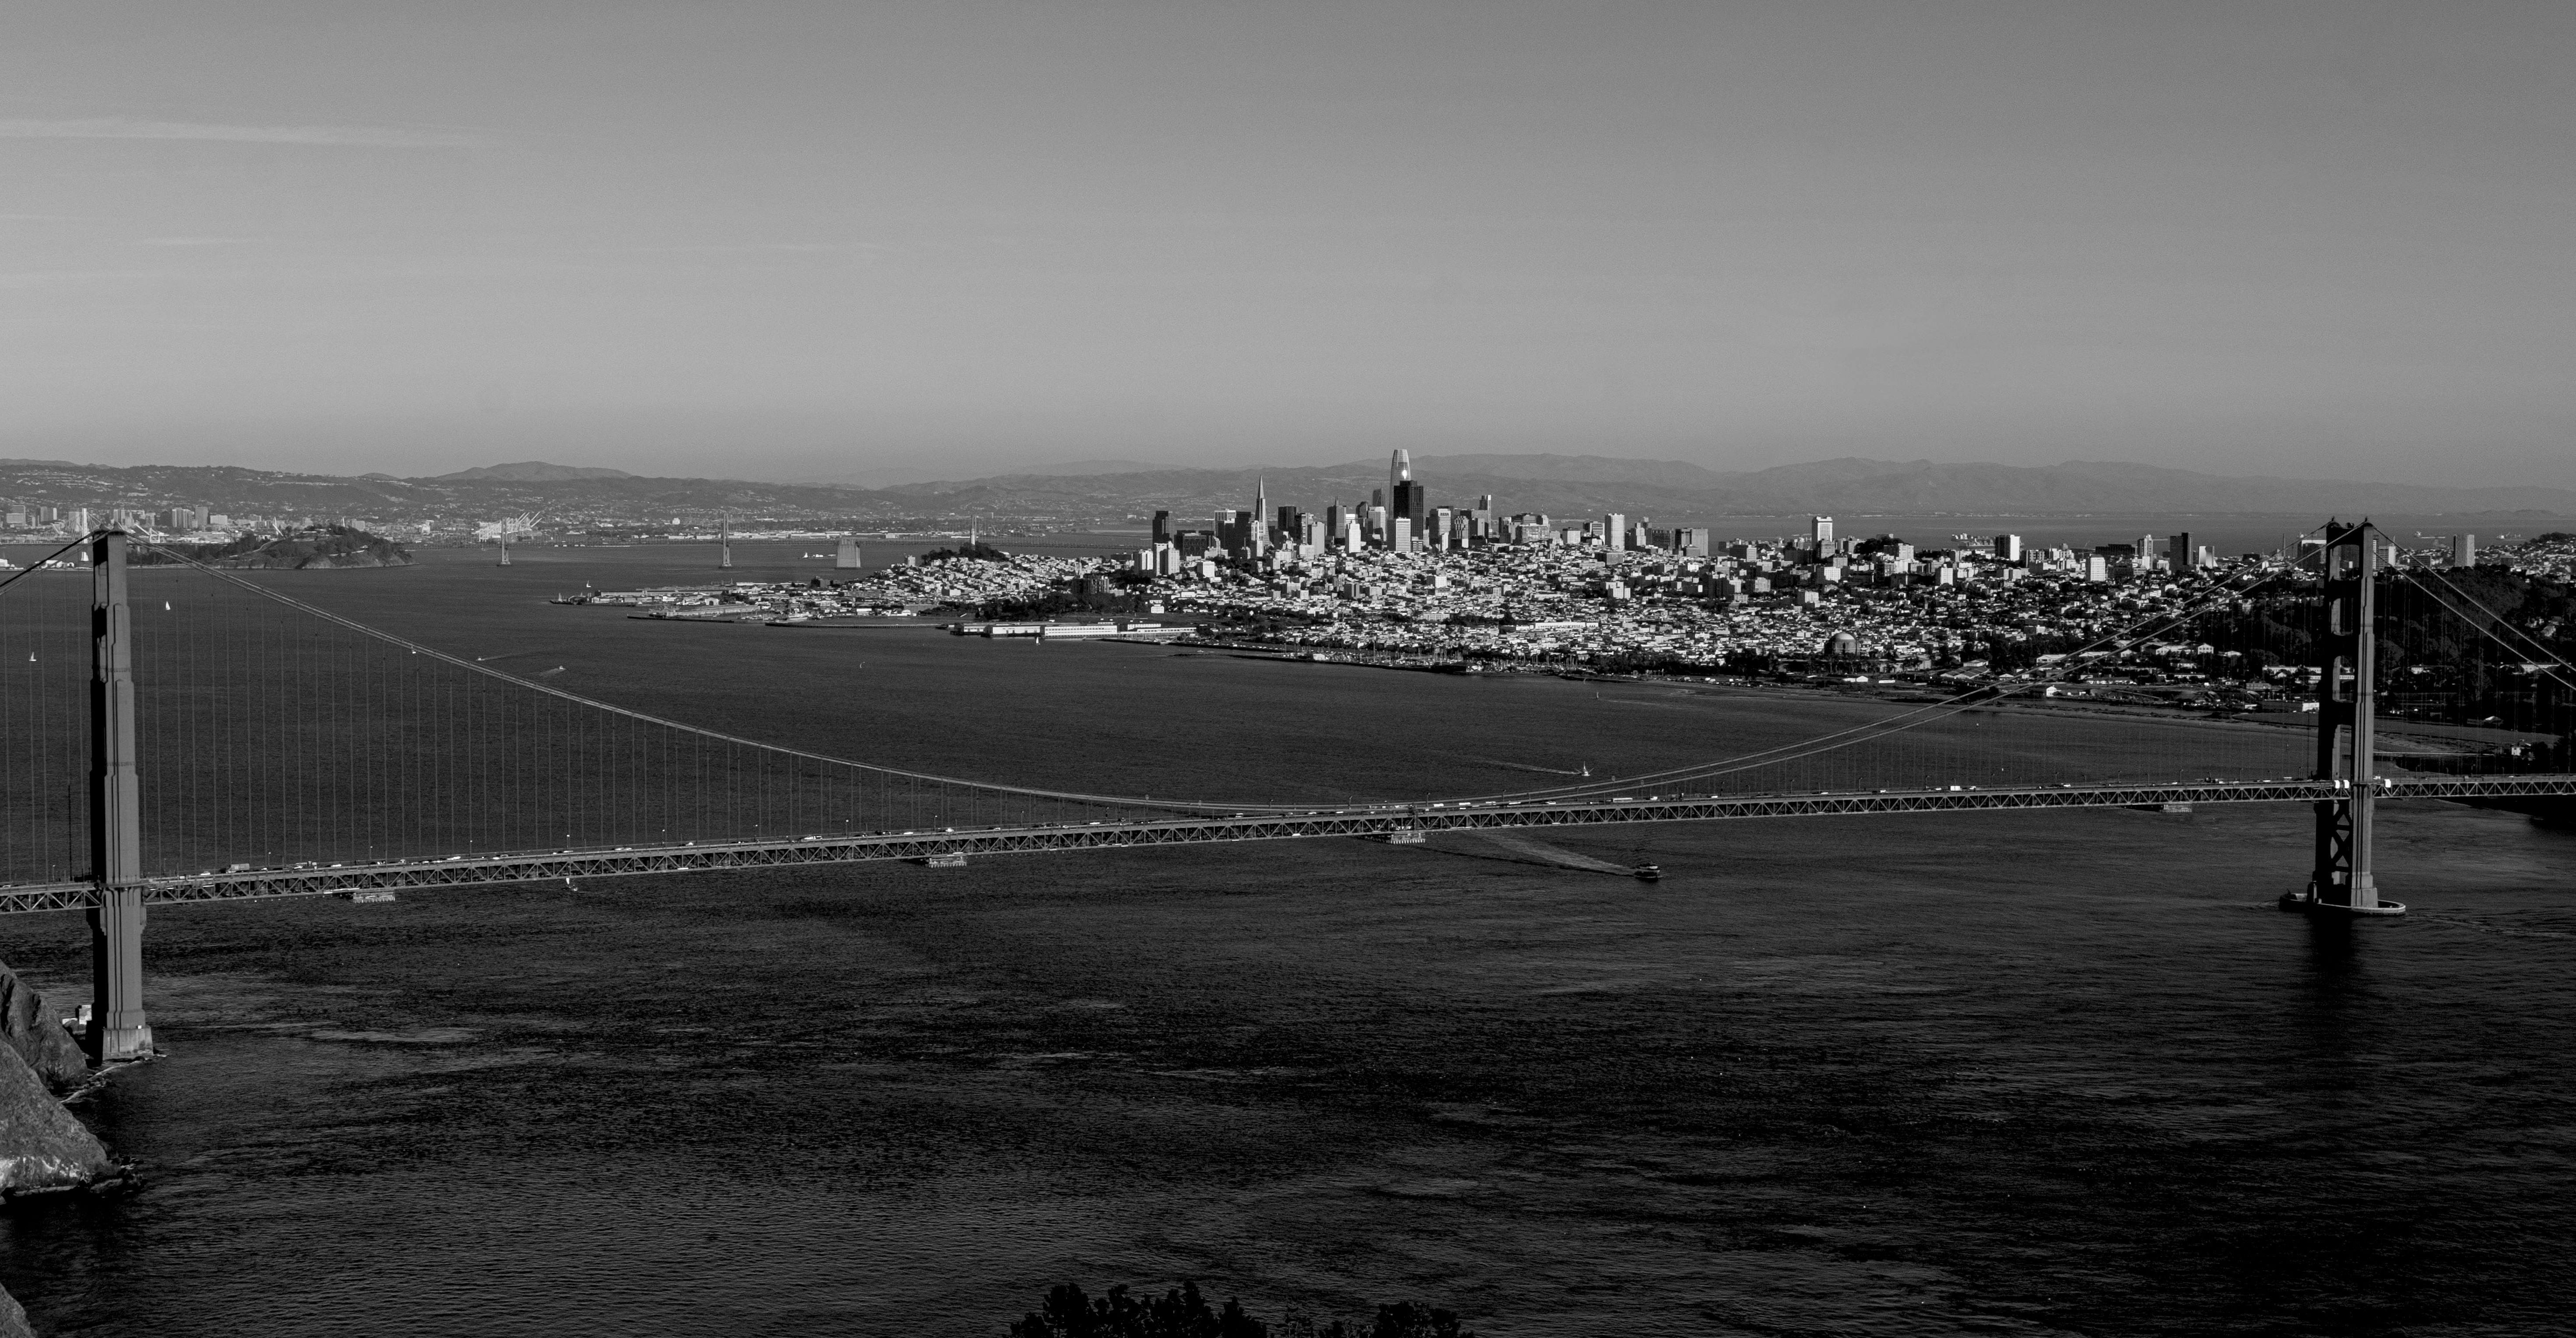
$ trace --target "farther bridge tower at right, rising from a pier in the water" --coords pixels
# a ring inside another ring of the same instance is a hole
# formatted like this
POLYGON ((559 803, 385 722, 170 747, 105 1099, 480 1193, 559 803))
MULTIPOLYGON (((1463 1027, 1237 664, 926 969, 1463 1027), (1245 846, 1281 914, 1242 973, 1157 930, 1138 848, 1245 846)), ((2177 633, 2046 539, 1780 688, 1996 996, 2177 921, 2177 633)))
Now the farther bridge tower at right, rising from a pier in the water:
POLYGON ((2378 797, 2372 688, 2378 675, 2378 528, 2326 523, 2324 606, 2316 637, 2316 779, 2342 789, 2316 804, 2311 907, 2352 915, 2403 915, 2383 902, 2370 871, 2370 804, 2378 797))

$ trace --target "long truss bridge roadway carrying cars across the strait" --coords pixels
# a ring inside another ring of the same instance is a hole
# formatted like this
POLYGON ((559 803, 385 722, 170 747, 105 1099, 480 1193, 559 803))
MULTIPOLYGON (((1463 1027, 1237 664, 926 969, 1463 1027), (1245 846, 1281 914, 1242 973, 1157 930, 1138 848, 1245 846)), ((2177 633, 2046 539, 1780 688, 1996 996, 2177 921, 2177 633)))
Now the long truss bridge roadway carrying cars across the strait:
MULTIPOLYGON (((2576 797, 2576 776, 2383 776, 2380 799, 2576 797)), ((616 846, 518 851, 435 861, 301 864, 242 874, 170 874, 144 882, 149 905, 317 897, 399 887, 484 887, 507 882, 598 879, 613 874, 693 874, 703 869, 775 869, 786 864, 853 864, 868 858, 997 856, 1030 851, 1097 851, 1121 846, 1193 846, 1208 840, 1296 840, 1311 835, 1386 838, 1476 828, 1579 828, 1610 822, 1708 822, 1723 817, 1816 817, 1857 812, 2079 810, 2151 804, 2313 804, 2336 799, 2334 781, 2169 781, 2061 786, 1942 786, 1888 791, 1618 797, 1582 802, 1440 802, 1376 804, 1242 817, 1151 817, 1033 828, 940 828, 866 835, 801 835, 765 840, 701 840, 688 846, 616 846)), ((93 905, 88 882, 0 887, 0 915, 80 910, 93 905)))

